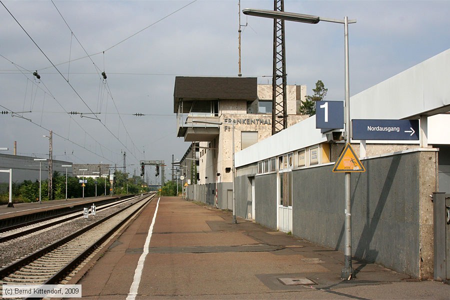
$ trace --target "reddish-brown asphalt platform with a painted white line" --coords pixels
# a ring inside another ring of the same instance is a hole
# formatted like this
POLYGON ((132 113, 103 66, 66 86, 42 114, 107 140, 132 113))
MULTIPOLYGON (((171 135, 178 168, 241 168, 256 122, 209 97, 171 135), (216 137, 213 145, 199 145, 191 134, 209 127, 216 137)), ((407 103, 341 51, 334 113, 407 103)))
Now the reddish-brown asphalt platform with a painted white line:
POLYGON ((86 299, 448 299, 450 285, 419 281, 229 211, 155 197, 68 284, 86 299))

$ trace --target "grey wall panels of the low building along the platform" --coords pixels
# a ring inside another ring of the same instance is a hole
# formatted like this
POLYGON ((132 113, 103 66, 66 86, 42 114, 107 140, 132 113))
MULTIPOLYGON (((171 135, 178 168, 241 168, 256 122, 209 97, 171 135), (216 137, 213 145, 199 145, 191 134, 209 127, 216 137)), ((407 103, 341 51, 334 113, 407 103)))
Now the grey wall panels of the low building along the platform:
MULTIPOLYGON (((417 278, 432 278, 432 202, 436 149, 409 150, 363 159, 351 175, 352 255, 417 278)), ((344 176, 333 164, 292 171, 292 234, 343 250, 344 176)), ((237 215, 245 217, 248 172, 240 182, 237 215)), ((276 173, 255 177, 255 220, 276 228, 276 173)), ((251 199, 251 198, 250 198, 251 199)))

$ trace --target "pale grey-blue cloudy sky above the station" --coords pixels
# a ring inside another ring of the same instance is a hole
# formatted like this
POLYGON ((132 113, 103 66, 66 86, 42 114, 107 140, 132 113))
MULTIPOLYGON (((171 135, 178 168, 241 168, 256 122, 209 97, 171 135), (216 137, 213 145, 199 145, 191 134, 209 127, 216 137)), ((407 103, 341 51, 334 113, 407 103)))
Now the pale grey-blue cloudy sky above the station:
MULTIPOLYGON (((176 137, 175 76, 238 73, 237 0, 0 1, 1 153, 16 141, 18 155, 47 157, 52 130, 55 159, 123 166, 126 152, 130 174, 164 160, 170 178, 171 155, 190 144, 176 137)), ((350 96, 450 46, 450 1, 285 0, 284 10, 356 19, 350 96)), ((241 14, 240 24, 242 76, 270 84, 273 21, 241 14)), ((322 80, 325 99, 343 100, 343 25, 286 21, 285 40, 287 84, 312 94, 322 80)))

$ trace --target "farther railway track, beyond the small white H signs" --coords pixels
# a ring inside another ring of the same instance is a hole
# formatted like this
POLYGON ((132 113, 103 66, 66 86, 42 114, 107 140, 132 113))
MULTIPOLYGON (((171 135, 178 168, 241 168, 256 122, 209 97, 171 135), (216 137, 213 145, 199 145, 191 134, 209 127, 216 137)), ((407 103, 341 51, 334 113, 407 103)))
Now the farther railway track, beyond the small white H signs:
MULTIPOLYGON (((102 204, 96 206, 96 211, 101 211, 106 208, 120 205, 124 202, 138 198, 138 196, 132 196, 125 199, 120 199, 114 202, 102 204)), ((89 209, 90 212, 90 209, 89 209)), ((13 242, 17 238, 26 238, 30 234, 38 234, 43 230, 51 230, 54 226, 72 220, 74 218, 83 215, 83 211, 76 211, 69 214, 63 214, 61 216, 55 216, 52 218, 44 218, 40 222, 33 222, 32 224, 24 223, 22 225, 13 225, 10 227, 1 228, 0 230, 0 246, 4 246, 8 241, 13 242)))

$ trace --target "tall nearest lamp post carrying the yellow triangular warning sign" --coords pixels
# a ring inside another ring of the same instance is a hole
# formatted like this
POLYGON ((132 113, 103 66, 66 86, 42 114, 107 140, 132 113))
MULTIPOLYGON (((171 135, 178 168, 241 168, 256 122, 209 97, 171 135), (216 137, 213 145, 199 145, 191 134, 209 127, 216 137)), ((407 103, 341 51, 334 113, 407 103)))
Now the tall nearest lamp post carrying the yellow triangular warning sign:
MULTIPOLYGON (((348 71, 348 24, 356 23, 356 20, 349 20, 348 17, 341 19, 334 19, 328 17, 321 17, 316 15, 274 11, 265 9, 246 8, 242 12, 247 15, 268 17, 274 19, 282 19, 287 21, 295 21, 301 23, 316 24, 319 21, 340 23, 344 25, 344 63, 345 63, 345 142, 350 143, 350 85, 349 85, 349 71, 348 71)), ((345 248, 344 259, 345 267, 342 269, 341 279, 351 279, 354 277, 353 269, 351 267, 351 201, 350 201, 350 172, 345 172, 345 248)))

